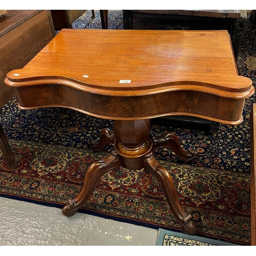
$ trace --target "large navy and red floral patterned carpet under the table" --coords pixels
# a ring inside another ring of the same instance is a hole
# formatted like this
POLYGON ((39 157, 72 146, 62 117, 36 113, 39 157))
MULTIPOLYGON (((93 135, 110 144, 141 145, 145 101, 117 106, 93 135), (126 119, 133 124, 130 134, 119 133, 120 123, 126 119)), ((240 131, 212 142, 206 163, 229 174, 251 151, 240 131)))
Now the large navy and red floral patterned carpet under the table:
MULTIPOLYGON (((91 19, 84 13, 74 29, 101 29, 99 12, 91 19)), ((249 15, 248 15, 249 17, 249 15)), ((123 29, 122 12, 109 12, 109 29, 123 29)), ((250 19, 237 60, 239 74, 256 78, 256 27, 250 19)), ((200 157, 184 163, 171 151, 156 155, 172 173, 179 200, 190 212, 197 234, 237 244, 250 244, 250 110, 255 95, 246 99, 240 125, 221 124, 209 135, 203 129, 175 127, 170 121, 154 121, 151 134, 175 132, 184 148, 194 146, 200 157)), ((90 150, 89 142, 99 137, 113 121, 94 118, 64 108, 21 111, 14 97, 0 111, 1 124, 17 160, 10 170, 0 156, 1 196, 17 197, 57 207, 77 196, 88 167, 107 156, 90 150), (59 204, 59 205, 58 205, 59 204)), ((124 168, 100 180, 82 212, 153 228, 180 230, 157 181, 143 170, 124 168)), ((72 217, 71 217, 72 218, 72 217)))

